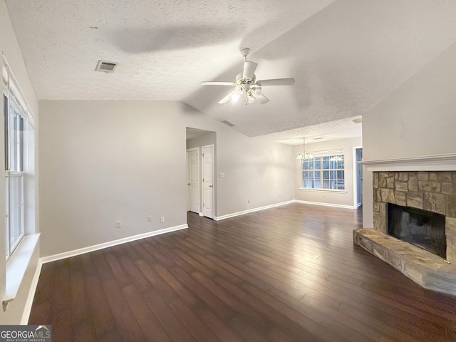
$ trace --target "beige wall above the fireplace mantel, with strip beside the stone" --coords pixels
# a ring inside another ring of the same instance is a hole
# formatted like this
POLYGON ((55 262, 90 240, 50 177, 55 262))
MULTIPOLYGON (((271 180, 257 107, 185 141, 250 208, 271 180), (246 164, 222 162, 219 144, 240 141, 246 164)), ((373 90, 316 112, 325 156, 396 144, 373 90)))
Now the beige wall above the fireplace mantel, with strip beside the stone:
MULTIPOLYGON (((363 115, 363 160, 456 153, 456 44, 363 115)), ((364 167, 363 226, 372 224, 364 167)))

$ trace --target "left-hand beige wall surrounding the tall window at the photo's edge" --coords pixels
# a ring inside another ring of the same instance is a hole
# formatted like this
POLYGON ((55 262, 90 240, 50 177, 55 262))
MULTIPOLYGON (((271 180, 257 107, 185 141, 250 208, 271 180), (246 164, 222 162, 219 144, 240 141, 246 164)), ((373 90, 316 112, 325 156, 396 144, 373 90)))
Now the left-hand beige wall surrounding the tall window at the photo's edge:
MULTIPOLYGON (((33 114, 36 116, 36 127, 38 126, 38 101, 36 100, 36 95, 31 86, 31 82, 28 78, 26 71, 24 58, 22 58, 21 49, 19 48, 19 43, 16 40, 16 35, 14 29, 11 25, 11 20, 9 19, 9 14, 6 9, 4 0, 0 0, 0 51, 4 53, 6 59, 8 60, 11 69, 16 76, 16 80, 21 87, 22 92, 25 95, 28 105, 30 105, 33 114)), ((3 88, 3 87, 2 87, 3 88)), ((3 108, 3 95, 1 96, 1 103, 3 108)), ((4 160, 4 120, 0 120, 0 160, 4 160)), ((36 143, 37 148, 37 143, 36 143)), ((38 167, 35 168, 36 177, 38 176, 38 167)), ((5 189, 4 182, 0 182, 0 222, 5 222, 5 189)), ((38 198, 36 199, 36 215, 38 215, 39 202, 38 198)), ((4 227, 4 224, 1 224, 1 227, 4 227)), ((36 221, 36 230, 39 231, 38 221, 36 221)), ((5 229, 0 229, 0 241, 5 241, 5 229)), ((5 255, 5 244, 0 244, 0 256, 5 255)), ((19 324, 21 321, 22 312, 24 311, 24 306, 26 304, 26 299, 28 296, 28 291, 31 286, 31 281, 33 274, 36 269, 36 264, 38 262, 38 247, 33 253, 32 259, 28 264, 26 274, 19 292, 16 296, 16 299, 12 301, 8 309, 4 312, 0 310, 0 324, 19 324)), ((5 292, 5 261, 4 257, 0 257, 0 298, 4 298, 5 292)))

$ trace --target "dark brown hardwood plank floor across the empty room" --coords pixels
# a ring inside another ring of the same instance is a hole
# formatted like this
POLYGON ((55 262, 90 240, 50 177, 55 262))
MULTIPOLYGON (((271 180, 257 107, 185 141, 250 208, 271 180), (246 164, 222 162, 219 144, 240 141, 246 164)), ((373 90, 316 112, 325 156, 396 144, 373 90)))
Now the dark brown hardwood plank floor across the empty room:
POLYGON ((71 341, 456 341, 456 298, 353 245, 361 210, 288 204, 43 264, 30 324, 71 341))

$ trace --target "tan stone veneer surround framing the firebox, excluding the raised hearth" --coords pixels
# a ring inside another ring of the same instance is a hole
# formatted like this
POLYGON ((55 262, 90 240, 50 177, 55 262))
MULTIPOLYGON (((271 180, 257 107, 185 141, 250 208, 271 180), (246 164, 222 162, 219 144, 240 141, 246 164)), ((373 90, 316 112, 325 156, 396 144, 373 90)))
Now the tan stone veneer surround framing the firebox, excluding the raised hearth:
POLYGON ((447 261, 456 264, 456 171, 373 172, 373 227, 386 231, 386 203, 445 215, 447 261))

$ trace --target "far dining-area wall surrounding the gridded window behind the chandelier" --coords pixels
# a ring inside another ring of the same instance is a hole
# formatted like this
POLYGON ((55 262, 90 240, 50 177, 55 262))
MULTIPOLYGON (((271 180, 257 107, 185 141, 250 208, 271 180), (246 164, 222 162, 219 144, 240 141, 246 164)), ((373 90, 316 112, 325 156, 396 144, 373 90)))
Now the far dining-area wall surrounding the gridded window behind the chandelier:
POLYGON ((329 204, 341 207, 353 207, 353 147, 360 147, 361 145, 361 138, 331 140, 327 142, 306 144, 306 150, 309 152, 343 149, 346 192, 301 190, 301 162, 296 160, 296 155, 298 155, 298 153, 302 150, 302 145, 294 146, 294 160, 296 164, 294 177, 294 198, 305 202, 329 204))

